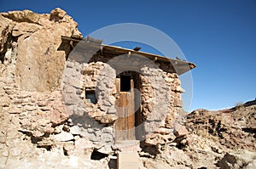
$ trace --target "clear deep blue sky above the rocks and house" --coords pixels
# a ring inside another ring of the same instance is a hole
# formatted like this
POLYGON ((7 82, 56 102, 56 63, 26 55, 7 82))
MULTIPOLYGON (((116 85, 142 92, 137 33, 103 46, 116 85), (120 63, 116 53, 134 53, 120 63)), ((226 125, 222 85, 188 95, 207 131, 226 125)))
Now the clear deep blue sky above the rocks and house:
POLYGON ((172 37, 197 65, 190 110, 218 110, 256 98, 255 0, 0 0, 0 12, 49 13, 57 7, 73 16, 84 37, 119 23, 150 25, 172 37))

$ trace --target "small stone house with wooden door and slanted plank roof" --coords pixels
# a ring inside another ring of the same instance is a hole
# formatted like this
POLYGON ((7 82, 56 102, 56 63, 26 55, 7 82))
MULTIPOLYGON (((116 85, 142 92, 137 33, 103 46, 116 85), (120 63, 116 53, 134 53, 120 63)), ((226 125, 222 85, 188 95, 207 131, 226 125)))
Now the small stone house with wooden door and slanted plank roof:
POLYGON ((94 144, 125 140, 166 144, 183 106, 178 76, 193 63, 102 44, 91 37, 61 37, 67 53, 62 95, 73 122, 94 144), (71 52, 70 52, 71 51, 71 52))

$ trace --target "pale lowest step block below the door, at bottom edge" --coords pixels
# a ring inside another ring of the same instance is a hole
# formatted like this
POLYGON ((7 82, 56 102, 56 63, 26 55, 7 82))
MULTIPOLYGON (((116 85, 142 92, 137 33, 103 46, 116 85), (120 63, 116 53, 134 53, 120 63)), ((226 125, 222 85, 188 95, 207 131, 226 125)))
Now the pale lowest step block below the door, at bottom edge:
POLYGON ((142 163, 139 161, 139 155, 134 151, 119 152, 117 157, 117 169, 139 169, 142 163))

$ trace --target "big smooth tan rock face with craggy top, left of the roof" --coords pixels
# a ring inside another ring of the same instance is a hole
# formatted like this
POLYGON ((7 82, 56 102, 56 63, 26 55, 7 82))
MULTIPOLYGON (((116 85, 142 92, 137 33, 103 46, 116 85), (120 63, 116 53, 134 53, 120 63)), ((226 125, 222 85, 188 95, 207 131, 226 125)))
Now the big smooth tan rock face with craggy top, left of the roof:
MULTIPOLYGON (((51 14, 14 11, 0 15, 0 54, 15 52, 15 82, 29 91, 54 91, 60 87, 65 51, 59 51, 61 36, 80 36, 78 24, 61 8, 51 14), (15 47, 15 42, 19 45, 15 47)), ((68 49, 67 49, 68 50, 68 49)), ((6 58, 5 58, 6 59, 6 58)), ((3 68, 1 69, 3 70, 3 68)))

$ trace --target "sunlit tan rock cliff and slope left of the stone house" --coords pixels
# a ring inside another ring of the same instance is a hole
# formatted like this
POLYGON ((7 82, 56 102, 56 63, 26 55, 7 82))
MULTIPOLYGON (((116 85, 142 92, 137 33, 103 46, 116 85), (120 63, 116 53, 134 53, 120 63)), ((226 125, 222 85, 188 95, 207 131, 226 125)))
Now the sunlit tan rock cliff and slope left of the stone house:
POLYGON ((58 48, 61 36, 81 36, 77 23, 60 8, 15 11, 0 14, 0 34, 0 168, 106 166, 90 160, 95 145, 79 135, 61 97, 69 48, 58 48))

